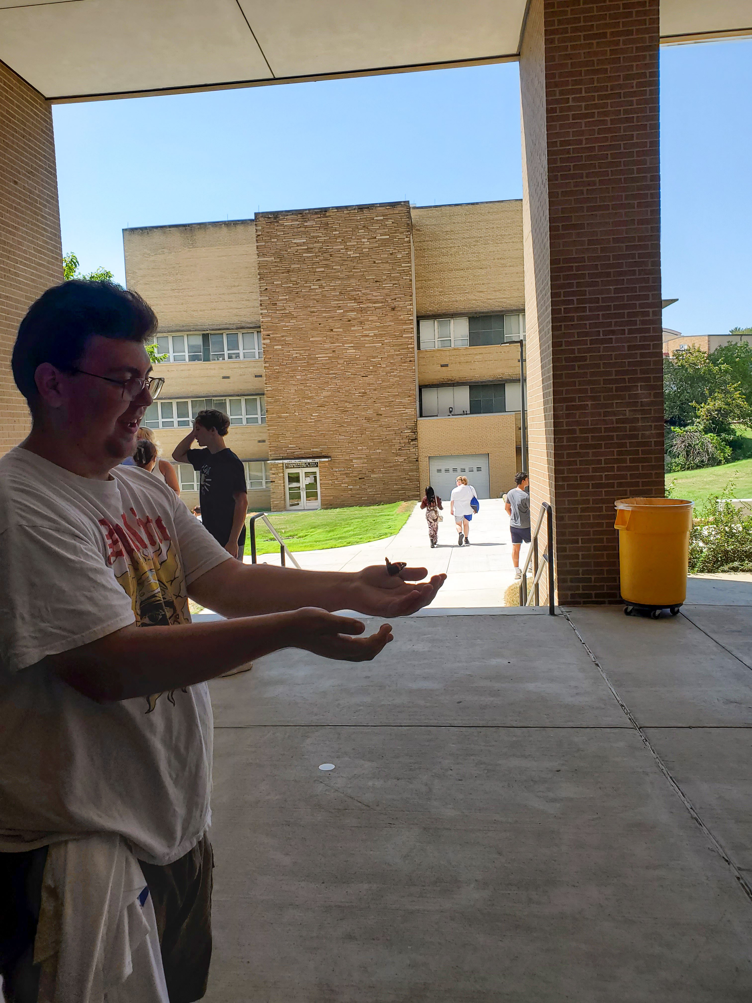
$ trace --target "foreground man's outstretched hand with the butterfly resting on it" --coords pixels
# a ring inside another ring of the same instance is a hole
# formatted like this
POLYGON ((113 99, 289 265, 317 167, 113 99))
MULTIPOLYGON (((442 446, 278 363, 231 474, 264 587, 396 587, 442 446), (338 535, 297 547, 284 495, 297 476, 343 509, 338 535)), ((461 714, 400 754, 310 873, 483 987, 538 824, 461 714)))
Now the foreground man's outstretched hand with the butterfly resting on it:
POLYGON ((385 565, 364 568, 353 575, 342 608, 372 617, 409 616, 427 606, 446 579, 434 575, 422 582, 427 574, 425 568, 403 568, 398 575, 390 575, 385 565))

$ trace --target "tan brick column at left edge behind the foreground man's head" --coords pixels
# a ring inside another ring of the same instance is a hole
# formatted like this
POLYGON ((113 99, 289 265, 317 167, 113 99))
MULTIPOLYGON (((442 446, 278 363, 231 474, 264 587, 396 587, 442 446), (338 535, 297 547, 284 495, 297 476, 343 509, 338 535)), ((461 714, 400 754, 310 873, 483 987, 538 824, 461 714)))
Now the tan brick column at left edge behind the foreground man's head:
POLYGON ((42 95, 0 62, 0 453, 29 428, 10 357, 18 325, 45 289, 62 282, 52 113, 42 95))

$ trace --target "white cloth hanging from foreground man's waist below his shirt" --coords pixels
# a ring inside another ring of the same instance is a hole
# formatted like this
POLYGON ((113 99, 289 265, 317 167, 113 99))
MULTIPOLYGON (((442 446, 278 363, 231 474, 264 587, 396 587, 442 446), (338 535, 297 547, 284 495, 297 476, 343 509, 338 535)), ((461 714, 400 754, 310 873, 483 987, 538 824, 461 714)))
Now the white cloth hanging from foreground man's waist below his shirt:
POLYGON ((168 1003, 151 896, 122 837, 50 846, 34 963, 38 1003, 168 1003))

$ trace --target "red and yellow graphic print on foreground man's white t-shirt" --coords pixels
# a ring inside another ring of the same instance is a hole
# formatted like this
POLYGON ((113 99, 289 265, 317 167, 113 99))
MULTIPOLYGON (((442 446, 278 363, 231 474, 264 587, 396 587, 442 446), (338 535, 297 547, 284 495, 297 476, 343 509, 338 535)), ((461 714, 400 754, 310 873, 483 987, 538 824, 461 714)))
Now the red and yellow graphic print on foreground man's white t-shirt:
MULTIPOLYGON (((190 623, 185 578, 174 542, 161 517, 140 517, 135 509, 120 517, 122 525, 100 519, 107 545, 107 564, 130 597, 138 627, 190 623)), ((183 693, 186 692, 183 689, 183 693)), ((149 714, 161 693, 146 697, 149 714)), ((174 690, 167 699, 174 705, 174 690)))

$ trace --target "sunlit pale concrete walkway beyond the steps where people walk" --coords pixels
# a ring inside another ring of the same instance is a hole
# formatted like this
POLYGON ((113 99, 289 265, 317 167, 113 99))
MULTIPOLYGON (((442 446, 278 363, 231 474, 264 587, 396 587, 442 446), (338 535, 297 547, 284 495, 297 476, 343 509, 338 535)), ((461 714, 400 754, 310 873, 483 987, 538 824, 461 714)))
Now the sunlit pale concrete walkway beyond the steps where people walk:
MULTIPOLYGON (((406 561, 411 567, 427 568, 429 575, 448 576, 441 592, 428 609, 497 609, 502 606, 506 587, 514 581, 509 539, 509 517, 501 498, 484 498, 480 512, 470 524, 470 546, 458 547, 454 519, 449 504, 439 523, 438 545, 431 550, 425 513, 419 508, 394 537, 354 547, 326 551, 302 551, 295 558, 302 568, 316 571, 360 571, 372 564, 406 561)), ((520 564, 526 547, 522 546, 520 564)), ((251 559, 246 558, 246 562, 251 559)), ((279 554, 265 554, 265 564, 280 564, 279 554)))

